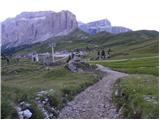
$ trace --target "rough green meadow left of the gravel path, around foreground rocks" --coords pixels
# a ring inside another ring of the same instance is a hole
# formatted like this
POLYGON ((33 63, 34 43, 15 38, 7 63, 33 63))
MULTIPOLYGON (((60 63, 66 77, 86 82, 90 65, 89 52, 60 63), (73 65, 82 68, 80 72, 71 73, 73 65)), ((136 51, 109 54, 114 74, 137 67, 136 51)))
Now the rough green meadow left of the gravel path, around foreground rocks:
POLYGON ((64 104, 62 96, 66 94, 67 100, 71 100, 80 91, 99 79, 100 74, 91 71, 84 73, 72 73, 64 68, 64 65, 50 67, 46 70, 38 63, 32 63, 28 59, 21 59, 19 63, 11 62, 6 65, 2 61, 2 118, 17 118, 15 105, 25 100, 35 109, 33 118, 42 118, 35 105, 35 96, 38 91, 53 89, 56 95, 52 99, 59 100, 55 103, 57 108, 64 104), (66 93, 67 91, 67 93, 66 93))

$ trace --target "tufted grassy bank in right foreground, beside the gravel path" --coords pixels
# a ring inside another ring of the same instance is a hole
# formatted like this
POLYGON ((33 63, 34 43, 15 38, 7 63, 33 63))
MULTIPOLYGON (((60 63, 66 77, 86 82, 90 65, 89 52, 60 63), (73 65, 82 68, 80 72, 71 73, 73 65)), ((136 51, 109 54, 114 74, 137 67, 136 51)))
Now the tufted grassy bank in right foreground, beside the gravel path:
POLYGON ((113 101, 120 109, 123 106, 124 118, 159 118, 158 77, 152 75, 130 75, 120 78, 114 87, 113 101), (119 91, 119 95, 115 92, 119 91), (146 96, 151 96, 146 100, 146 96))

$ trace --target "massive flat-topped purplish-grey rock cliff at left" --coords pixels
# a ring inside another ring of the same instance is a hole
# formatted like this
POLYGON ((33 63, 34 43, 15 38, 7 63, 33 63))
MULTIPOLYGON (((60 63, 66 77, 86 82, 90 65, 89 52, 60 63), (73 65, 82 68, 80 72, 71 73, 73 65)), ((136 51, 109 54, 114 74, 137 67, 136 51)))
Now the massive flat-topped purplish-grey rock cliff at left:
POLYGON ((2 23, 2 44, 13 47, 65 35, 78 27, 76 16, 69 11, 23 12, 2 23))

